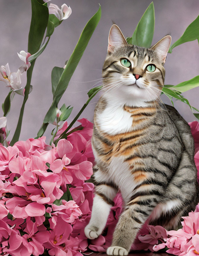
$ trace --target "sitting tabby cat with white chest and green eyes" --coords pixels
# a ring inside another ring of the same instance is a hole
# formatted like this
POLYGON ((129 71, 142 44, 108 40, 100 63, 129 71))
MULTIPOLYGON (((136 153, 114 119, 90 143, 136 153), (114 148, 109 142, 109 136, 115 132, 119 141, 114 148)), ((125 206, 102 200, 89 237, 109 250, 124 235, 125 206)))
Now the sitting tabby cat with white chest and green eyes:
POLYGON ((159 98, 171 36, 150 49, 126 42, 112 25, 94 111, 96 165, 92 216, 84 232, 95 239, 106 225, 118 191, 124 201, 107 255, 128 255, 145 221, 166 229, 198 203, 194 140, 187 122, 159 98))

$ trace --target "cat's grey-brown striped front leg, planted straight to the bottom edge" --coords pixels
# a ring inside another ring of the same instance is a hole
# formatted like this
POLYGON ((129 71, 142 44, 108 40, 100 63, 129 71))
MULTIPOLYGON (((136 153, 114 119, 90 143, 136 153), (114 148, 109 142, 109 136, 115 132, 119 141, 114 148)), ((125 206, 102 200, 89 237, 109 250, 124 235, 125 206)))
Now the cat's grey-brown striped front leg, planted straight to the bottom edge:
POLYGON ((116 225, 112 244, 106 252, 107 255, 128 255, 139 229, 156 204, 155 195, 140 195, 126 205, 116 225))

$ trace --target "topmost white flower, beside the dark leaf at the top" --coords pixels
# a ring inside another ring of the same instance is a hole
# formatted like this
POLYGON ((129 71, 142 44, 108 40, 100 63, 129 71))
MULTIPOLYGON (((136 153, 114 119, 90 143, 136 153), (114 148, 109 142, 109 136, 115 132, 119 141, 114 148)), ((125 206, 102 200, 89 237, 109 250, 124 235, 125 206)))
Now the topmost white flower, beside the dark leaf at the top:
POLYGON ((61 9, 56 4, 50 4, 49 7, 49 14, 54 14, 59 20, 68 19, 71 15, 71 8, 68 7, 66 4, 62 4, 61 9))

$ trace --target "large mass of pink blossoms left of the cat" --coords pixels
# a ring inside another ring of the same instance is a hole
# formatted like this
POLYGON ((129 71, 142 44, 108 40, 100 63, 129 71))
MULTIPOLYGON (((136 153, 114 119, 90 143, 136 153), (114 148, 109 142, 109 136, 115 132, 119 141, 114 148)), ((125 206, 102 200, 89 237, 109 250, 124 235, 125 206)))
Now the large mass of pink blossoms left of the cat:
POLYGON ((0 145, 0 255, 38 256, 47 249, 49 255, 71 256, 86 250, 78 223, 84 225, 92 207, 94 185, 85 180, 92 175, 93 125, 79 122, 83 129, 57 147, 46 145, 45 137, 0 145))

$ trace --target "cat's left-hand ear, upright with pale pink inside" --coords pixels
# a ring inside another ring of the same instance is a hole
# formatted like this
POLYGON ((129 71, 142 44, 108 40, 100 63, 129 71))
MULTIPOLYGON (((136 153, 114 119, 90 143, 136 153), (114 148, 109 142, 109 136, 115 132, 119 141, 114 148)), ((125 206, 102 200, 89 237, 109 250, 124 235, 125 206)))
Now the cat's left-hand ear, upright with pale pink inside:
POLYGON ((113 24, 108 36, 108 53, 113 52, 115 47, 120 47, 122 45, 128 45, 128 43, 120 28, 113 24))

